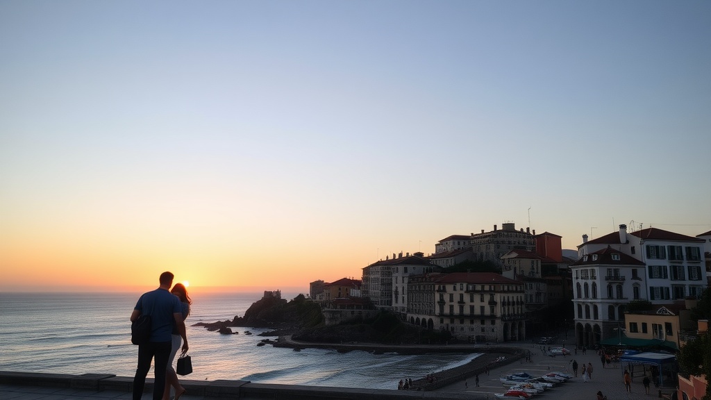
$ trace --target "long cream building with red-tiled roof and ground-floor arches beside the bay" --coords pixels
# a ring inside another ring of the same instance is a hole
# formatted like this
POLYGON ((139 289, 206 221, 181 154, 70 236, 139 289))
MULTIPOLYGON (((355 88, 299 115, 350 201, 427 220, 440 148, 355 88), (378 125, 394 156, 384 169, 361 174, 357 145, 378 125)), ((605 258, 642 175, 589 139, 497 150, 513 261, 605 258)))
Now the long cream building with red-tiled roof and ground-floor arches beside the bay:
POLYGON ((412 277, 408 286, 412 324, 472 342, 525 339, 520 282, 497 273, 432 273, 412 277))

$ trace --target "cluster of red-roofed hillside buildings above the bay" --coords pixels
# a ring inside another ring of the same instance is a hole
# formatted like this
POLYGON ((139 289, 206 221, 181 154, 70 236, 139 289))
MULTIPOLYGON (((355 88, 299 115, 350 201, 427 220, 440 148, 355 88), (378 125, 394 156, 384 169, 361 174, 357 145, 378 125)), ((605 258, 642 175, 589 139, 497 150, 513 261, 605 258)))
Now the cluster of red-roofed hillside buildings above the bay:
MULTIPOLYGON (((711 284, 711 231, 686 236, 623 224, 597 238, 582 235, 577 253, 563 250, 561 239, 507 222, 443 238, 427 256, 386 256, 360 279, 316 280, 309 296, 326 324, 387 310, 474 344, 561 332, 575 349, 675 354, 706 330, 707 320, 690 313, 711 284)), ((693 393, 706 381, 680 376, 678 385, 693 393)))

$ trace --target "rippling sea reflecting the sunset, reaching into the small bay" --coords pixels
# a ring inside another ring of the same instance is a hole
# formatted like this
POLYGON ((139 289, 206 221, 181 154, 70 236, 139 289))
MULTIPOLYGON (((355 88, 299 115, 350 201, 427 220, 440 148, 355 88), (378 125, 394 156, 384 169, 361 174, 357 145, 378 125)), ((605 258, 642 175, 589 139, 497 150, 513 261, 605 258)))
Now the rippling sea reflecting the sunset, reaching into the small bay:
MULTIPOLYGON (((294 295, 284 295, 291 299, 294 295)), ((0 369, 59 374, 107 373, 132 377, 138 347, 129 316, 139 294, 0 293, 0 369)), ((220 335, 196 322, 243 316, 262 293, 193 297, 188 325, 190 379, 247 379, 272 384, 396 389, 397 381, 466 364, 478 354, 400 356, 326 349, 257 347, 257 328, 220 335), (245 335, 250 331, 255 335, 245 335)), ((149 377, 152 372, 149 373, 149 377)))

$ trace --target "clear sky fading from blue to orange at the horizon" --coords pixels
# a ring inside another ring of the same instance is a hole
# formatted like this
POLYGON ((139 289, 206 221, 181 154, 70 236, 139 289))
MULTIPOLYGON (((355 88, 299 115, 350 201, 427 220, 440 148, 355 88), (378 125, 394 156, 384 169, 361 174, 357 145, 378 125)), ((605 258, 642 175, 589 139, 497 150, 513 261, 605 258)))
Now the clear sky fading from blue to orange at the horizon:
POLYGON ((709 1, 0 1, 0 291, 711 230, 709 1))

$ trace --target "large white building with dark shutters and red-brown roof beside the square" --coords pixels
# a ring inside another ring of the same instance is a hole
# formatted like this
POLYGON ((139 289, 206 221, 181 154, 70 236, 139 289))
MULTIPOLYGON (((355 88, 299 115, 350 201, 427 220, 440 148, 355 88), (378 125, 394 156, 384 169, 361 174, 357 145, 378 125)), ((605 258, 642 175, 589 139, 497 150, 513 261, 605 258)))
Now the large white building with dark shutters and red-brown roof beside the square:
POLYGON ((703 244, 658 228, 628 233, 626 225, 592 241, 584 235, 571 265, 577 344, 618 335, 630 300, 663 305, 699 296, 703 244))

